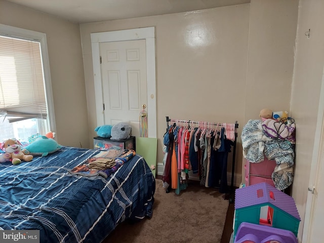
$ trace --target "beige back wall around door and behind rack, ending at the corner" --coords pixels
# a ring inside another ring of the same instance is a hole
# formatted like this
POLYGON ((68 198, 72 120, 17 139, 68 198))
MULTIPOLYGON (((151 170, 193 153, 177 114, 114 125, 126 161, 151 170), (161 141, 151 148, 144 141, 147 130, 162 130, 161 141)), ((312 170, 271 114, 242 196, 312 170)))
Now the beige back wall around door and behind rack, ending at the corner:
MULTIPOLYGON (((244 4, 80 25, 90 130, 97 126, 90 33, 148 26, 155 26, 156 32, 158 163, 163 161, 166 116, 220 123, 237 120, 241 129, 245 118, 249 15, 250 4, 244 4), (198 31, 201 43, 194 45, 198 31)), ((96 134, 90 132, 91 139, 96 134)), ((237 150, 236 173, 240 176, 239 144, 237 150)))

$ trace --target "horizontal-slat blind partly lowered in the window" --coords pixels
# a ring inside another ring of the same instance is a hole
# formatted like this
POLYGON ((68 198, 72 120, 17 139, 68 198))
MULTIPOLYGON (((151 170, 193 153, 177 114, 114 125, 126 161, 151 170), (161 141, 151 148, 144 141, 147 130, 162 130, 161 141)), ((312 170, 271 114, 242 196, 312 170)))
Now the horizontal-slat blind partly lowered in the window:
POLYGON ((10 122, 47 117, 41 46, 0 36, 0 112, 10 122))

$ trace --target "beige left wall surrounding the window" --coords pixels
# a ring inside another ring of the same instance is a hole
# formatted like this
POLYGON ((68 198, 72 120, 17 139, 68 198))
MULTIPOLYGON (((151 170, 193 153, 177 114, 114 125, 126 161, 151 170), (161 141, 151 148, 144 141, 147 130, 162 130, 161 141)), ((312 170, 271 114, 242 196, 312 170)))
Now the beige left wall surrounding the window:
POLYGON ((0 23, 46 33, 58 143, 89 147, 78 24, 0 0, 0 23))

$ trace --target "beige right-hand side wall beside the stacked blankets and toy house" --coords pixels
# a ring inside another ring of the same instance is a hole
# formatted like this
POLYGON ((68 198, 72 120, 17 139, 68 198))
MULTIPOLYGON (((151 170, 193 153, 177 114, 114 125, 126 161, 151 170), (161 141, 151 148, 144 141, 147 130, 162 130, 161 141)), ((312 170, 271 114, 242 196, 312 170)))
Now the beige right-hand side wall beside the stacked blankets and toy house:
POLYGON ((318 102, 323 76, 323 9, 324 1, 300 1, 291 98, 291 113, 297 121, 293 197, 302 218, 299 227, 300 239, 302 238, 306 199, 309 193, 307 188, 310 185, 308 183, 309 172, 313 156, 318 102), (305 35, 308 29, 310 29, 309 38, 305 35))

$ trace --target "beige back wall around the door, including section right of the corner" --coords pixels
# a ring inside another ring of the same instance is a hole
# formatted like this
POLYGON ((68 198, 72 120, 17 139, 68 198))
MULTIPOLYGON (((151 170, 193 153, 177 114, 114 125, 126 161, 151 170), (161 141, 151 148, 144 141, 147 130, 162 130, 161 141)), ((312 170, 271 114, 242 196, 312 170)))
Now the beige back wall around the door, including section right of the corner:
POLYGON ((293 0, 252 1, 251 14, 250 4, 244 4, 80 25, 90 140, 95 136, 91 129, 97 125, 90 33, 155 26, 158 163, 163 159, 165 116, 237 120, 239 183, 242 127, 249 119, 258 119, 262 108, 289 110, 297 14, 298 2, 293 0), (190 46, 190 33, 198 28, 207 30, 207 43, 190 46))

